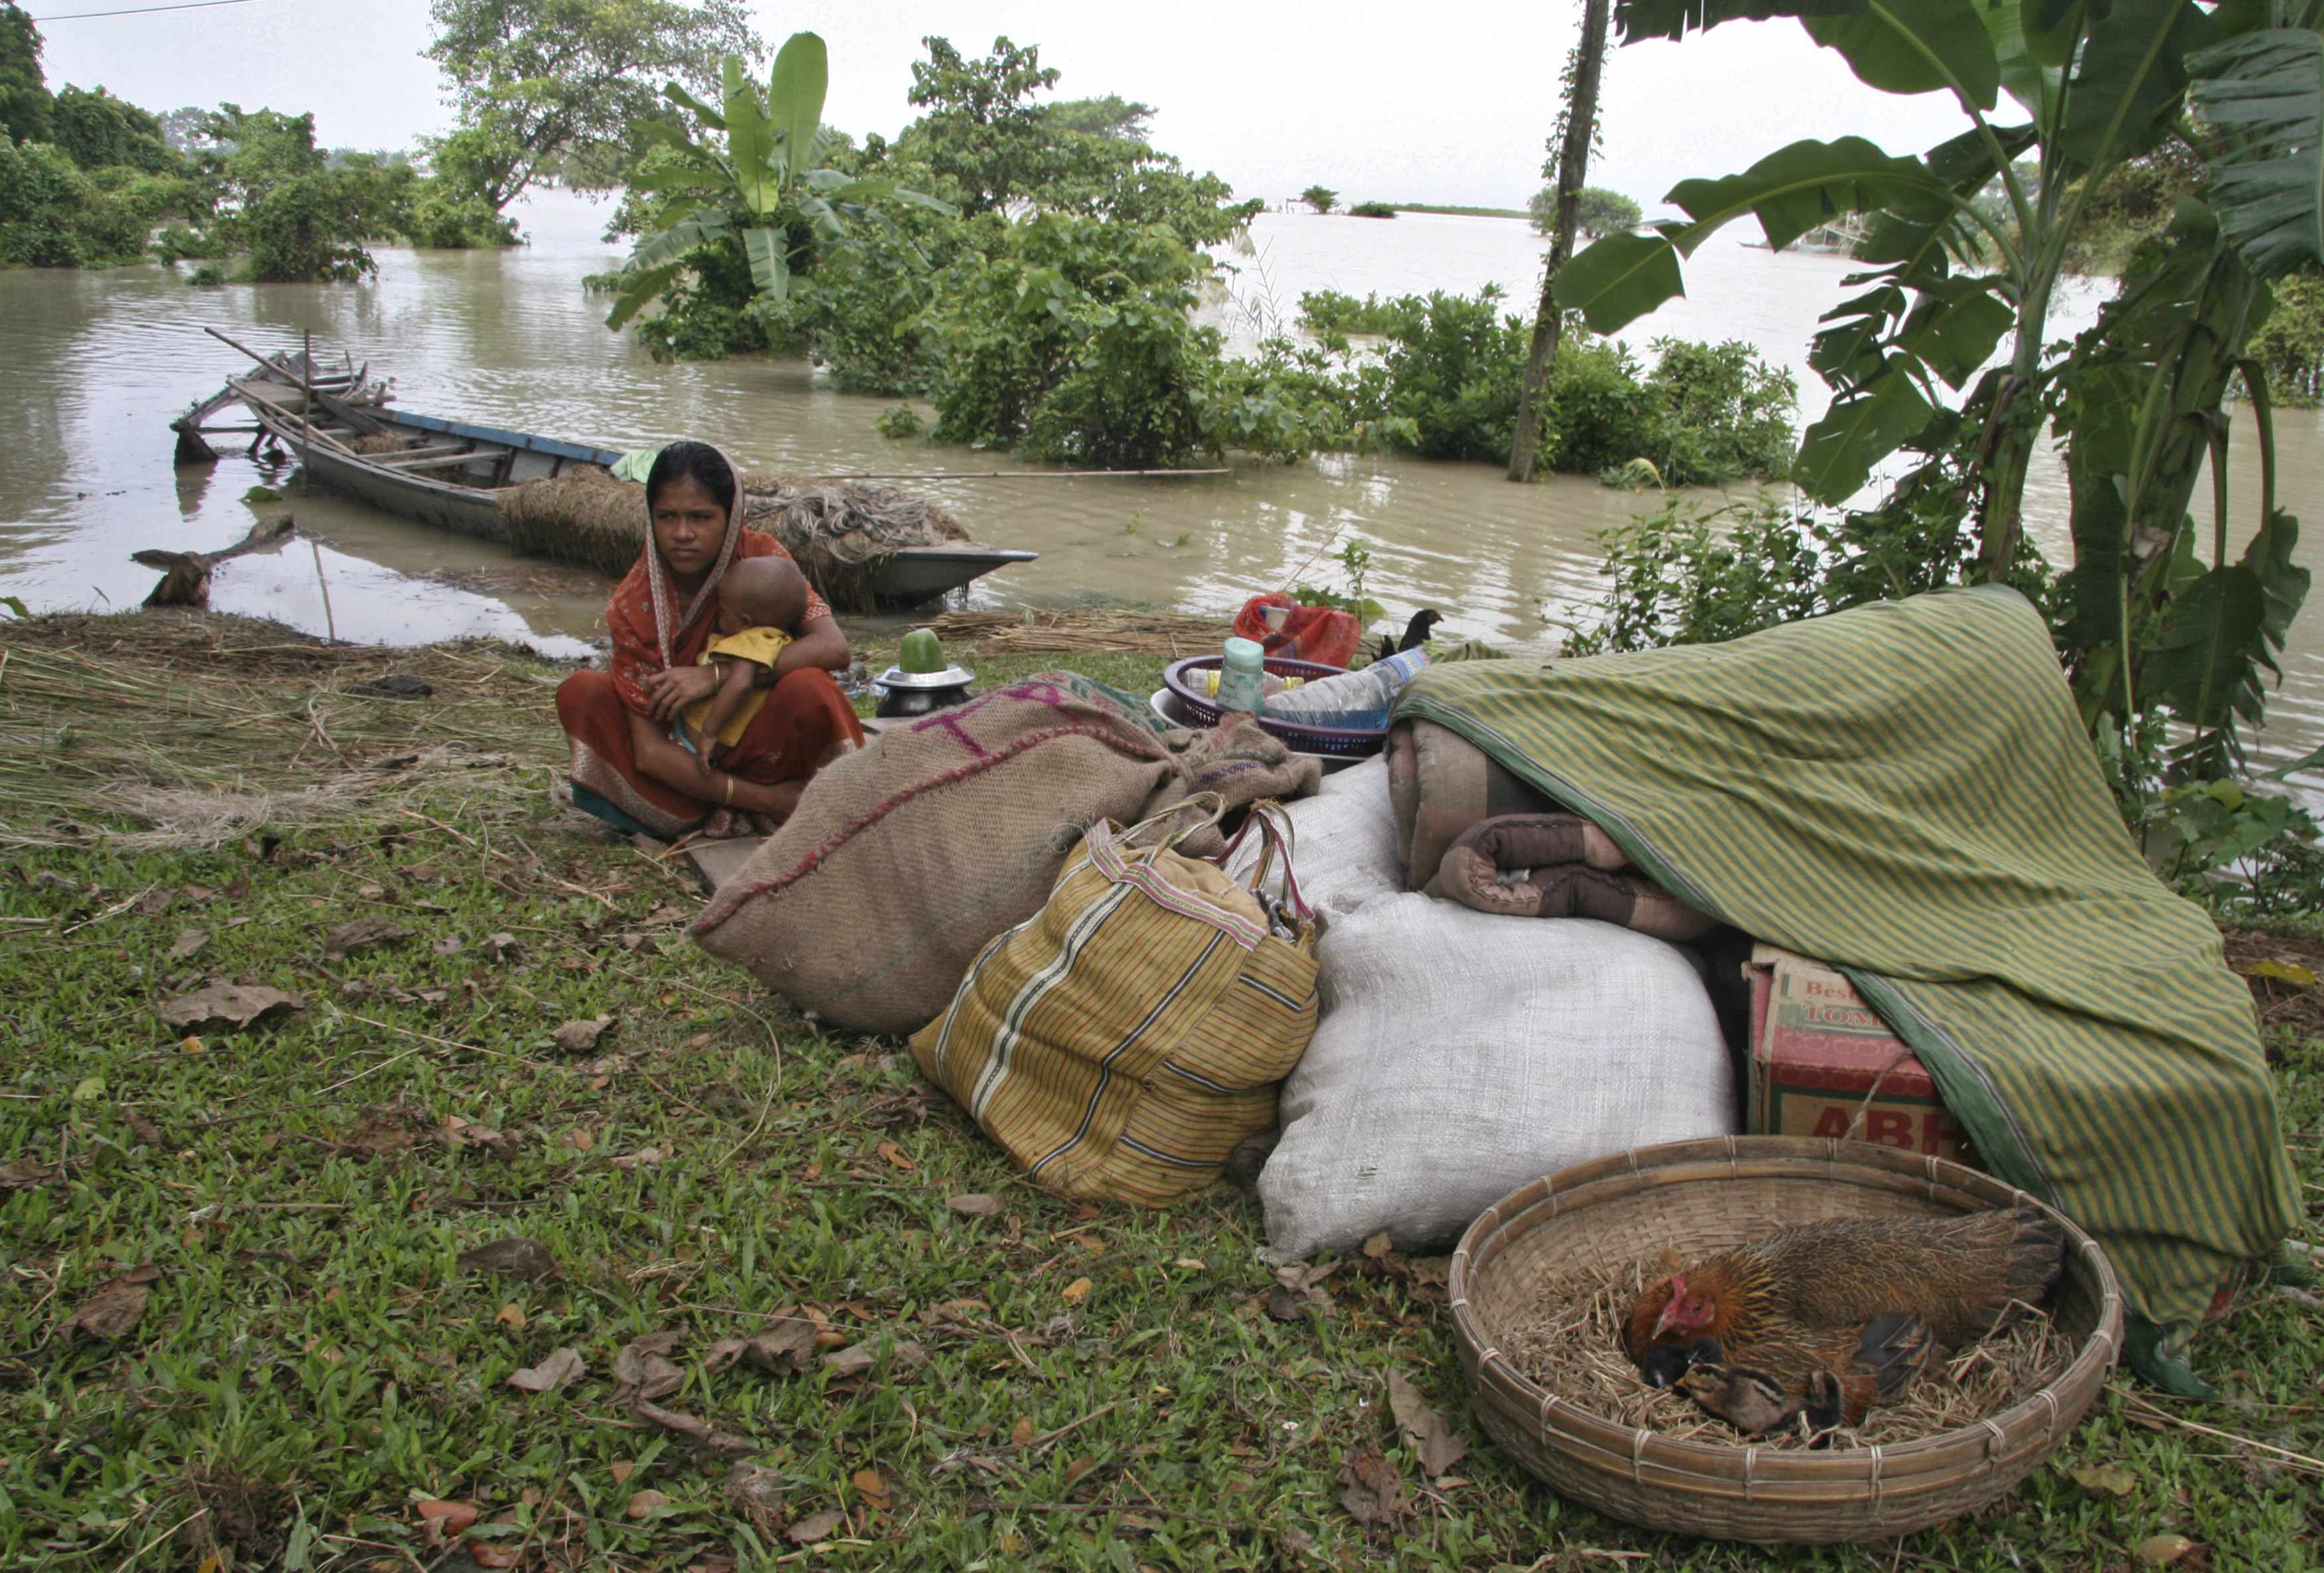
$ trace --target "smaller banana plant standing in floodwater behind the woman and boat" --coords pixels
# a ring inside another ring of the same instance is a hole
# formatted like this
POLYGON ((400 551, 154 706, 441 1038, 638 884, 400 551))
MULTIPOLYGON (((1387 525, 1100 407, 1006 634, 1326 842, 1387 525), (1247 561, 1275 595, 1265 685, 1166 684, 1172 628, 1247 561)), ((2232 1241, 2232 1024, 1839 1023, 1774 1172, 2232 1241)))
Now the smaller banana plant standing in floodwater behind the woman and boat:
POLYGON ((765 93, 744 77, 741 56, 725 60, 725 105, 711 107, 672 81, 662 88, 693 132, 672 121, 637 121, 637 132, 662 156, 630 177, 634 191, 672 193, 662 228, 644 237, 616 274, 607 328, 621 328, 651 300, 679 283, 704 246, 739 242, 751 283, 767 300, 790 295, 792 225, 837 242, 848 218, 883 218, 881 202, 904 202, 941 214, 937 197, 885 179, 851 179, 818 167, 832 137, 823 128, 830 63, 823 39, 792 33, 774 58, 765 93))

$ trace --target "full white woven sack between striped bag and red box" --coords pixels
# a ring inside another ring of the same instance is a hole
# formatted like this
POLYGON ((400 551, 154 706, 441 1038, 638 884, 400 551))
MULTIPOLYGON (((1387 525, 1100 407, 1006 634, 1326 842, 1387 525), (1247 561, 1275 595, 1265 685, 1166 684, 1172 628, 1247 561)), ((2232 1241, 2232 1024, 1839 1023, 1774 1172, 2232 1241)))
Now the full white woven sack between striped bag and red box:
POLYGON ((1378 1229, 1446 1248, 1569 1164, 1736 1129, 1710 997, 1659 939, 1392 892, 1329 913, 1318 967, 1322 1018, 1260 1173, 1278 1262, 1378 1229))

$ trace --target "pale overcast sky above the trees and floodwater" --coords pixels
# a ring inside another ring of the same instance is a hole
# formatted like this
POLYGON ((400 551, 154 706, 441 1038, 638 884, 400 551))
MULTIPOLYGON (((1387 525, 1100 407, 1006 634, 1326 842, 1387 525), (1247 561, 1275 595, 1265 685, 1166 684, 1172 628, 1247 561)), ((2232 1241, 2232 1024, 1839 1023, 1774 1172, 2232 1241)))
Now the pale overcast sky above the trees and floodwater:
MULTIPOLYGON (((63 21, 139 0, 28 0, 51 86, 107 86, 149 109, 239 102, 311 109, 330 146, 407 146, 446 128, 421 58, 425 0, 246 0, 218 9, 63 21)), ((1522 204, 1541 186, 1557 72, 1578 0, 1413 7, 1373 0, 1178 0, 1155 7, 978 0, 758 5, 760 33, 823 33, 825 118, 895 135, 920 37, 962 53, 995 35, 1039 44, 1067 98, 1155 105, 1155 146, 1281 200, 1311 181, 1348 200, 1522 204)), ((1961 128, 1941 95, 1857 84, 1799 23, 1729 23, 1687 44, 1615 49, 1606 156, 1592 184, 1655 202, 1690 174, 1729 174, 1799 137, 1868 135, 1917 153, 1961 128)))

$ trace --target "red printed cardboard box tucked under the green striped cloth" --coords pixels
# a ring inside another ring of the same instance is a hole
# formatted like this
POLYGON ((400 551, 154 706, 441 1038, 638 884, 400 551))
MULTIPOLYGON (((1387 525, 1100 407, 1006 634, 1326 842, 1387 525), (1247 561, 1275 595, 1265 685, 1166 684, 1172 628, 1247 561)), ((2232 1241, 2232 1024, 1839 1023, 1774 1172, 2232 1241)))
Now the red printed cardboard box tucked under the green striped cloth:
POLYGON ((1978 1162, 1929 1069, 1848 978, 1803 955, 1752 946, 1750 1132, 1845 1136, 1873 1083, 1880 1092, 1864 1113, 1864 1141, 1978 1162))

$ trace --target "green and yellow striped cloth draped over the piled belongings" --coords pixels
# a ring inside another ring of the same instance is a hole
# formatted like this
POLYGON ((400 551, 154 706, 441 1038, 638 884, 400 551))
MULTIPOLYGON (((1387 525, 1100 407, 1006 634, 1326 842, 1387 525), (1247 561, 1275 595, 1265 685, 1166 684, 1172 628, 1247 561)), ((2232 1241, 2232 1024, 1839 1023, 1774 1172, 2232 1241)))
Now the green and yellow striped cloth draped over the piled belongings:
POLYGON ((2089 1229, 2129 1357, 2298 1220, 2219 934, 2140 862, 2047 630, 1943 590, 1720 646, 1429 667, 1397 699, 1604 825, 1694 906, 1829 957, 1985 1164, 2089 1229))

